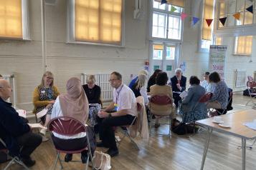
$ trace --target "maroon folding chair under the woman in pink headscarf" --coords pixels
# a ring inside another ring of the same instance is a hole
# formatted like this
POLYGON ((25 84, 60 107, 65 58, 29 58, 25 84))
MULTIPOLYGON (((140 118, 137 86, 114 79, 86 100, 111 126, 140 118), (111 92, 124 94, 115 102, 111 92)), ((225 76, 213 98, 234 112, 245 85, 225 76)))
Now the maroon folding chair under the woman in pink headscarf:
MULTIPOLYGON (((73 119, 72 117, 69 117, 69 116, 60 116, 60 117, 56 117, 56 118, 52 119, 51 121, 49 121, 48 129, 49 129, 49 131, 55 132, 60 135, 65 135, 65 136, 72 136, 75 134, 79 134, 81 132, 87 133, 87 127, 84 124, 82 124, 80 121, 73 119)), ((86 138, 87 138, 87 146, 85 146, 83 149, 79 149, 79 150, 74 150, 74 151, 68 150, 67 151, 67 150, 58 149, 54 145, 55 149, 57 150, 57 157, 56 157, 56 160, 54 163, 54 169, 56 168, 57 161, 60 161, 61 169, 63 169, 62 160, 60 159, 60 153, 78 154, 78 153, 81 153, 82 151, 85 151, 88 149, 89 155, 87 157, 87 163, 85 166, 85 169, 87 169, 88 162, 89 162, 89 156, 90 156, 90 160, 93 160, 93 156, 92 156, 92 152, 90 150, 89 136, 86 135, 86 138)), ((54 144, 54 142, 53 142, 53 144, 54 144)))

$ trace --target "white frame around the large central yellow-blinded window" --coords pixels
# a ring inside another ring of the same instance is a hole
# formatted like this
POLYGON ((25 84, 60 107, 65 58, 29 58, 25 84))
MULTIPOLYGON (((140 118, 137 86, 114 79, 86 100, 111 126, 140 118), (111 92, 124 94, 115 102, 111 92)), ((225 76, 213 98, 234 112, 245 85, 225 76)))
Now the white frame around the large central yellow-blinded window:
POLYGON ((120 44, 108 44, 90 41, 76 41, 75 40, 75 0, 67 1, 67 44, 88 44, 95 46, 115 46, 125 47, 125 0, 122 0, 121 11, 121 39, 120 44))

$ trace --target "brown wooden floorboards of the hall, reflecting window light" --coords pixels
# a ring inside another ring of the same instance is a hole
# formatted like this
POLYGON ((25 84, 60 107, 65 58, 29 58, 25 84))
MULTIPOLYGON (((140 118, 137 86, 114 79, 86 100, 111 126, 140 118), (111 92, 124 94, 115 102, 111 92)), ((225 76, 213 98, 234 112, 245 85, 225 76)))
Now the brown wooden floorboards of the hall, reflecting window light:
MULTIPOLYGON (((252 106, 245 106, 248 99, 239 94, 234 95, 234 110, 231 112, 251 109, 252 106)), ((159 131, 168 133, 168 128, 160 126, 159 131)), ((152 136, 148 141, 138 139, 136 141, 138 141, 140 151, 137 151, 130 141, 125 139, 120 145, 119 156, 111 159, 112 169, 200 169, 206 134, 206 131, 201 131, 192 137, 172 134, 171 139, 163 136, 152 136)), ((252 142, 247 141, 247 145, 252 142)), ((237 137, 213 132, 204 169, 242 169, 242 153, 240 149, 237 149, 240 144, 241 139, 237 137)), ((253 149, 247 149, 246 154, 246 168, 256 169, 256 144, 253 149)), ((56 152, 51 141, 44 142, 32 154, 32 159, 37 161, 32 169, 52 169, 55 156, 56 152)), ((74 155, 73 159, 80 160, 80 155, 74 155)), ((65 169, 83 169, 84 166, 80 163, 63 164, 65 169)), ((1 164, 0 168, 3 169, 4 165, 6 164, 1 164)), ((22 168, 14 164, 10 169, 22 168)), ((60 169, 59 164, 57 169, 60 169)))

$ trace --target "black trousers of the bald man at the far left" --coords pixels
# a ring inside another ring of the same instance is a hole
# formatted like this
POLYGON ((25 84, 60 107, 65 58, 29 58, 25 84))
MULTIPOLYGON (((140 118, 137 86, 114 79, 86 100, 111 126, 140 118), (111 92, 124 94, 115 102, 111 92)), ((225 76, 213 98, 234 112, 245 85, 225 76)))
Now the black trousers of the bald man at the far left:
POLYGON ((29 131, 18 137, 19 146, 22 146, 21 156, 23 159, 29 159, 30 154, 42 143, 42 136, 29 131))

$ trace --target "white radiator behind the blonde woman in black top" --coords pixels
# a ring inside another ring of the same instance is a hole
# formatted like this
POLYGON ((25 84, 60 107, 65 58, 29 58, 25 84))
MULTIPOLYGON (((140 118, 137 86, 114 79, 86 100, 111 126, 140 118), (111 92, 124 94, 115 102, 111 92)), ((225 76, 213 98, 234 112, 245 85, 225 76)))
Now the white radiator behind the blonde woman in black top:
MULTIPOLYGON (((86 84, 86 77, 91 74, 82 73, 81 81, 82 84, 86 84)), ((95 75, 96 82, 101 89, 101 99, 102 101, 110 101, 113 100, 113 88, 110 86, 110 74, 93 74, 95 75)))

